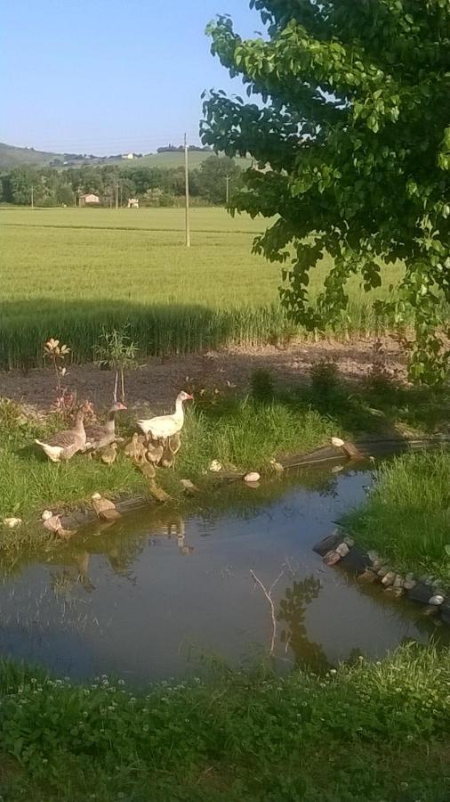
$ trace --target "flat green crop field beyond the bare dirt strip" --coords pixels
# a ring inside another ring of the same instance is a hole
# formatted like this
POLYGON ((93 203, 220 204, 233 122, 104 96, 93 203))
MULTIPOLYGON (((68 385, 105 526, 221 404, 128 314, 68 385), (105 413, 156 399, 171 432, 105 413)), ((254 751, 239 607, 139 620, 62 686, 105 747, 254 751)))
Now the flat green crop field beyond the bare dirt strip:
MULTIPOLYGON (((0 209, 0 368, 41 364, 49 337, 92 360, 102 328, 129 324, 141 355, 258 345, 298 333, 280 307, 280 266, 251 253, 267 221, 192 209, 0 209)), ((317 292, 330 263, 311 277, 317 292)), ((398 271, 390 271, 395 281, 398 271)), ((345 331, 374 331, 354 282, 345 331)))

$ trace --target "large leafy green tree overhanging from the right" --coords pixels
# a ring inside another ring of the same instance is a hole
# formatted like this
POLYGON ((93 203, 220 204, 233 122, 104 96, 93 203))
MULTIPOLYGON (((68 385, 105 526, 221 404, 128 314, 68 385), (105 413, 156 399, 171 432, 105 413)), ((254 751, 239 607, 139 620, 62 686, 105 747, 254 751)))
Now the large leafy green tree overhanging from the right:
POLYGON ((377 311, 414 322, 411 375, 442 378, 449 352, 450 0, 251 0, 266 36, 243 40, 229 17, 210 24, 212 52, 259 104, 212 91, 204 143, 249 152, 235 210, 276 222, 253 248, 285 263, 282 299, 309 329, 345 313, 346 284, 382 286, 400 259, 398 295, 377 311), (315 303, 309 273, 333 269, 315 303))

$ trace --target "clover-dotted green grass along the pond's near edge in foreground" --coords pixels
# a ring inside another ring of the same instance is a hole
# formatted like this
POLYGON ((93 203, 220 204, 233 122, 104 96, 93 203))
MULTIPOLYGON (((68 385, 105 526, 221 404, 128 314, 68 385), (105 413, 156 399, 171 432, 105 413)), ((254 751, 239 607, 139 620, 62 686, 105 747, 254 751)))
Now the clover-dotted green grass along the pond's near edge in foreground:
POLYGON ((4 663, 8 802, 445 802, 450 654, 317 676, 222 669, 133 692, 4 663))

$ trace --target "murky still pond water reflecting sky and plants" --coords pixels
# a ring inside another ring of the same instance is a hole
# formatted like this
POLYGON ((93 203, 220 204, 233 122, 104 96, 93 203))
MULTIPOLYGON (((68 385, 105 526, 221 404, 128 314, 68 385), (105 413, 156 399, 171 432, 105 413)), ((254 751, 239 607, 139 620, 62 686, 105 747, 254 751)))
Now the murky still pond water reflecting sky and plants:
POLYGON ((312 552, 371 481, 368 470, 328 468, 257 489, 235 483, 212 509, 149 510, 4 567, 0 653, 59 675, 134 683, 196 675, 213 654, 252 660, 269 650, 272 618, 251 571, 268 590, 279 577, 281 670, 377 659, 409 639, 448 641, 420 606, 358 585, 312 552))

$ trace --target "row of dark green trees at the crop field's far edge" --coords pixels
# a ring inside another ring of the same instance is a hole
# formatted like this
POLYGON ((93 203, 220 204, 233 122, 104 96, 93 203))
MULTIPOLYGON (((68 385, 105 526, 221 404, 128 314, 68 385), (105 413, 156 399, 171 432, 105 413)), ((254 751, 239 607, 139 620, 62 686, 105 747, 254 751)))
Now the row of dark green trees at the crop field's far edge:
MULTIPOLYGON (((209 156, 189 171, 189 193, 197 202, 224 204, 242 185, 242 168, 227 156, 209 156)), ((185 192, 184 168, 120 165, 56 170, 18 167, 0 175, 0 201, 20 206, 76 206, 85 193, 98 195, 103 206, 126 206, 138 198, 141 206, 173 206, 185 192)))

